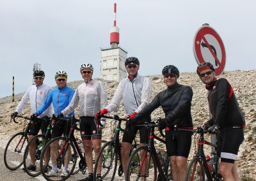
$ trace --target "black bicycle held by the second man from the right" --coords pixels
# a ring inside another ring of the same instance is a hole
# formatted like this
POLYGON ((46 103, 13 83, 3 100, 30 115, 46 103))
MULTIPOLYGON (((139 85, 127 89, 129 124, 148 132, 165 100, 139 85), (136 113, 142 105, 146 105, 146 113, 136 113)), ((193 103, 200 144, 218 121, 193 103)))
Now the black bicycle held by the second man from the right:
POLYGON ((154 146, 154 139, 165 141, 154 134, 156 122, 145 123, 140 126, 147 127, 150 130, 148 144, 136 148, 132 152, 127 165, 127 175, 125 180, 171 180, 172 167, 168 154, 164 152, 164 157, 159 157, 159 151, 154 146), (158 171, 157 171, 158 170, 158 171))

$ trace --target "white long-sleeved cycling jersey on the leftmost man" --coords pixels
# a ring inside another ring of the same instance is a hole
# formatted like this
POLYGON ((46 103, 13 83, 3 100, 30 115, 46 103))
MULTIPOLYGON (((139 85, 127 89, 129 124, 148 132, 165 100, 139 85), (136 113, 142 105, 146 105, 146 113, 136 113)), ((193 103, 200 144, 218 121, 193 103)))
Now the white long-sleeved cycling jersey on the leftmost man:
MULTIPOLYGON (((17 106, 15 112, 21 113, 24 107, 27 105, 28 100, 30 102, 31 106, 31 112, 35 113, 40 106, 42 106, 47 99, 47 96, 52 91, 52 88, 48 85, 45 85, 42 83, 42 85, 36 86, 31 85, 28 90, 25 92, 24 96, 22 96, 22 99, 17 106)), ((52 115, 52 106, 50 106, 47 110, 45 109, 44 112, 40 115, 40 117, 51 117, 52 115)))

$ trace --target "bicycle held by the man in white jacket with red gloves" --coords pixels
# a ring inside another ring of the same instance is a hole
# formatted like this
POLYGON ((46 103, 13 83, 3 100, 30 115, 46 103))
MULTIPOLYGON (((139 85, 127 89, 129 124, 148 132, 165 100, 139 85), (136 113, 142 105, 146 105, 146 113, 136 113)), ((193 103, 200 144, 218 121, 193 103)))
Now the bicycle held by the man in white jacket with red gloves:
MULTIPOLYGON (((115 127, 115 134, 112 136, 112 140, 108 141, 106 144, 104 144, 100 148, 99 155, 97 156, 97 159, 95 161, 95 167, 94 167, 94 180, 96 180, 97 175, 97 168, 99 167, 99 164, 101 164, 101 178, 102 180, 114 180, 116 175, 116 168, 118 167, 118 176, 121 177, 124 173, 123 167, 122 167, 122 157, 121 157, 121 144, 119 141, 119 135, 120 131, 124 132, 125 130, 121 127, 122 121, 127 121, 126 119, 122 119, 118 117, 118 115, 106 116, 102 115, 100 117, 104 117, 106 119, 113 119, 115 121, 116 127, 115 127)), ((136 140, 134 140, 134 143, 132 144, 130 154, 132 150, 138 147, 138 144, 136 143, 136 140)))

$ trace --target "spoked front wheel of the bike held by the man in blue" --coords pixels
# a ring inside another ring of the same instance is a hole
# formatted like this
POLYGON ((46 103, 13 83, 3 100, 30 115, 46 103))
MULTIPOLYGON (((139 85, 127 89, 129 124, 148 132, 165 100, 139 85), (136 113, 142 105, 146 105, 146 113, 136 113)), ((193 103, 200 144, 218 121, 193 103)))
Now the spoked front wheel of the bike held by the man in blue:
MULTIPOLYGON (((40 158, 41 158, 41 152, 45 145, 49 142, 49 138, 44 136, 43 134, 38 134, 34 138, 32 138, 29 142, 28 145, 25 149, 24 152, 24 170, 26 173, 28 173, 29 176, 31 177, 36 177, 41 174, 40 170, 40 158), (29 152, 29 148, 31 147, 31 150, 29 152), (33 152, 33 153, 32 153, 33 152), (31 164, 31 159, 35 160, 35 166, 36 169, 35 171, 33 170, 28 170, 28 166, 31 164)), ((50 157, 50 150, 48 150, 48 154, 45 154, 44 159, 44 165, 45 165, 45 171, 47 172, 49 169, 48 163, 49 163, 49 157, 50 157)))

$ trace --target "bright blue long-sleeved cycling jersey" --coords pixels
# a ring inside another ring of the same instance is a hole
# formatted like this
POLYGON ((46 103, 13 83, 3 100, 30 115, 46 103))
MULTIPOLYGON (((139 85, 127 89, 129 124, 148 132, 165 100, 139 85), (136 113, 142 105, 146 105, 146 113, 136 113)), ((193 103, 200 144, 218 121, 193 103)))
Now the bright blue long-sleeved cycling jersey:
MULTIPOLYGON (((42 105, 35 113, 41 115, 42 112, 44 112, 52 103, 55 115, 59 115, 61 111, 64 110, 70 103, 74 92, 74 89, 68 87, 67 85, 62 88, 57 87, 53 89, 47 97, 44 105, 42 105)), ((74 115, 74 112, 70 112, 69 116, 71 115, 74 115)))

